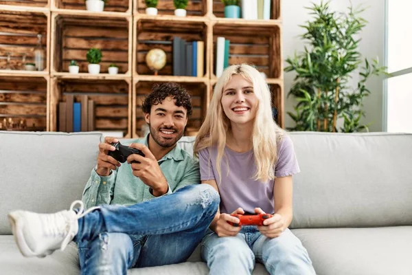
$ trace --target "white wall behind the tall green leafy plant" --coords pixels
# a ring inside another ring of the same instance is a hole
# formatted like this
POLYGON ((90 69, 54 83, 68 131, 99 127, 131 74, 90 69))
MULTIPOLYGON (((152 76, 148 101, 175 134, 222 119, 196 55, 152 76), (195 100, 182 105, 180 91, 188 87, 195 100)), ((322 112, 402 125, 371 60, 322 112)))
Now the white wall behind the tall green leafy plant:
MULTIPOLYGON (((283 58, 293 56, 295 52, 301 52, 304 48, 303 41, 299 35, 303 34, 304 29, 299 25, 304 25, 310 20, 310 14, 304 7, 310 7, 312 2, 319 3, 319 0, 282 0, 282 41, 283 41, 283 58)), ((361 33, 360 52, 365 58, 376 58, 378 56, 380 63, 384 62, 384 45, 385 45, 385 0, 352 0, 354 6, 362 4, 367 10, 363 12, 362 17, 369 23, 361 33)), ((345 12, 350 1, 332 0, 330 8, 345 12)), ((286 66, 286 63, 284 63, 286 66)), ((295 105, 293 98, 286 98, 288 91, 293 83, 294 73, 284 74, 284 91, 285 91, 285 111, 292 111, 295 105)), ((358 76, 354 76, 352 83, 356 85, 358 76)), ((382 131, 382 100, 383 100, 383 82, 382 78, 371 78, 367 83, 371 95, 364 100, 364 110, 366 118, 363 123, 372 122, 369 131, 382 131)), ((293 120, 285 112, 285 125, 293 126, 293 120)))

